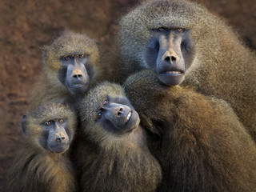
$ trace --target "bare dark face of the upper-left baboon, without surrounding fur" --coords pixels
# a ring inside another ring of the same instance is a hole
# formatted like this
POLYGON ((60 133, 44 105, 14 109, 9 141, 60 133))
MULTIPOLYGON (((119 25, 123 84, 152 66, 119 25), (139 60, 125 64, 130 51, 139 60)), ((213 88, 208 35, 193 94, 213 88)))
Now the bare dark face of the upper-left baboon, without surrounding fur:
POLYGON ((86 92, 93 71, 86 54, 72 54, 60 58, 62 67, 58 72, 58 79, 72 94, 86 92))

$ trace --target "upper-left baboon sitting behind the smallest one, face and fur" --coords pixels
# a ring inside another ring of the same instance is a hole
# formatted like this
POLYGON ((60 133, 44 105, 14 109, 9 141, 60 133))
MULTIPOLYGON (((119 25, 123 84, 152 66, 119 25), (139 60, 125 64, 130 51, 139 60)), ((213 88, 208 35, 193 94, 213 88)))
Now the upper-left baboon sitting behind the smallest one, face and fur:
POLYGON ((41 102, 69 102, 101 77, 98 45, 85 34, 65 31, 45 46, 43 61, 45 68, 34 88, 32 109, 41 102))

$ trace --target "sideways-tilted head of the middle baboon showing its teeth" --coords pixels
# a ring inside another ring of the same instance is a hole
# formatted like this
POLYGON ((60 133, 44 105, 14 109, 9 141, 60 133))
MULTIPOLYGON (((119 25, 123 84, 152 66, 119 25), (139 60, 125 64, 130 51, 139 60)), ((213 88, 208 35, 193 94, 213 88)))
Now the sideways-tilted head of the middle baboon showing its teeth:
POLYGON ((134 134, 142 132, 139 126, 140 118, 126 98, 122 86, 103 82, 90 90, 86 97, 78 102, 78 107, 83 130, 91 135, 90 138, 94 142, 101 143, 102 146, 111 146, 107 143, 116 140, 121 142, 144 137, 144 134, 134 134))

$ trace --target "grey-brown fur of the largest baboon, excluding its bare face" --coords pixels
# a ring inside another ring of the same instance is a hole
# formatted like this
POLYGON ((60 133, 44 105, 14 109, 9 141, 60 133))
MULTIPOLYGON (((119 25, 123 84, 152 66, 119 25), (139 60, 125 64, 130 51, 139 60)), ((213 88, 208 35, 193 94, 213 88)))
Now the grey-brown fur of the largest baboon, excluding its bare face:
POLYGON ((150 67, 145 62, 146 42, 152 38, 152 29, 160 27, 190 30, 195 53, 193 62, 187 63, 190 68, 186 69, 182 86, 193 86, 202 94, 230 103, 256 140, 255 53, 244 46, 221 18, 195 2, 147 1, 120 20, 121 62, 115 61, 120 66, 114 66, 119 69, 119 82, 150 67))

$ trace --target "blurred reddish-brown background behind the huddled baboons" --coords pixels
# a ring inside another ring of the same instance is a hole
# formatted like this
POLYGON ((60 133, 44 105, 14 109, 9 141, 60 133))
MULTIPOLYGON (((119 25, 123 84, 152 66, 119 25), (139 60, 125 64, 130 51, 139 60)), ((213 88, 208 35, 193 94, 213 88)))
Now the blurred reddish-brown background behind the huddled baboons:
MULTIPOLYGON (((194 1, 226 18, 246 44, 256 48, 255 0, 194 1)), ((0 0, 0 191, 22 138, 20 117, 28 110, 31 88, 42 70, 40 47, 69 29, 97 38, 107 49, 117 19, 136 2, 0 0)))

